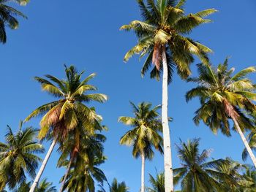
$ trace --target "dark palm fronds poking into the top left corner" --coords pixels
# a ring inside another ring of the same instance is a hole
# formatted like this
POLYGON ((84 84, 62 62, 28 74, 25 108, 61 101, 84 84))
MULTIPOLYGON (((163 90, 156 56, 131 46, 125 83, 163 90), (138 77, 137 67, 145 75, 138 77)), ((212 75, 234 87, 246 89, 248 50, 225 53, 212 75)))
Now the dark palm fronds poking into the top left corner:
POLYGON ((17 9, 10 7, 8 4, 10 2, 15 2, 20 5, 26 5, 29 0, 0 0, 0 42, 7 42, 7 34, 5 31, 6 26, 9 26, 11 29, 18 28, 18 20, 15 16, 21 16, 26 18, 26 15, 23 15, 22 12, 19 12, 17 9))

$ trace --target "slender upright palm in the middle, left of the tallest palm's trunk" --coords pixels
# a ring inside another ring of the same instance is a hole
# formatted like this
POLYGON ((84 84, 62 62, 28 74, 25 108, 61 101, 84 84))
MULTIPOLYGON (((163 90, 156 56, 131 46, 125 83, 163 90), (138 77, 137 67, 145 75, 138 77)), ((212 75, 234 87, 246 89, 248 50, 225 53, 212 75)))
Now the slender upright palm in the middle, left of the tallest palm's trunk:
POLYGON ((158 105, 151 109, 152 104, 142 102, 135 106, 132 102, 132 110, 134 118, 120 117, 118 121, 127 126, 132 126, 132 130, 127 131, 120 139, 121 145, 128 145, 133 147, 132 155, 135 158, 141 157, 141 189, 145 191, 145 159, 151 160, 154 156, 152 147, 162 153, 162 137, 159 131, 162 130, 162 124, 159 118, 159 110, 161 107, 158 105))

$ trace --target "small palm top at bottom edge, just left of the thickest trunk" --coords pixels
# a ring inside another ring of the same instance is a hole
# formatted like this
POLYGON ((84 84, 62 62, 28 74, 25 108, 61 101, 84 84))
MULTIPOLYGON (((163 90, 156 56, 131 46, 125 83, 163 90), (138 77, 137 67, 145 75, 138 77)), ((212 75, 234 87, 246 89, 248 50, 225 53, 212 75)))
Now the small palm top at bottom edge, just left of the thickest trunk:
POLYGON ((148 192, 165 192, 165 174, 159 173, 156 178, 149 174, 149 182, 152 188, 148 188, 148 192))

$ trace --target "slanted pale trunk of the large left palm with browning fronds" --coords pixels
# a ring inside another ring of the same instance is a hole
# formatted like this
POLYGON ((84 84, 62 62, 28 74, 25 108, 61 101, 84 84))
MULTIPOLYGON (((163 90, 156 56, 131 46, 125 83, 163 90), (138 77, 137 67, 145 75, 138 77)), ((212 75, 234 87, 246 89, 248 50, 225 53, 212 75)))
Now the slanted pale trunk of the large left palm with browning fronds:
POLYGON ((46 166, 46 164, 47 164, 47 162, 50 158, 50 154, 53 152, 53 148, 56 145, 56 142, 57 142, 57 140, 53 139, 53 142, 51 143, 50 148, 49 148, 48 152, 45 155, 44 161, 42 161, 42 165, 41 165, 41 167, 40 167, 40 169, 37 173, 36 178, 34 179, 34 183, 31 185, 31 188, 30 188, 29 192, 34 192, 35 191, 35 189, 37 187, 37 183, 39 182, 40 177, 42 176, 42 172, 44 172, 44 170, 45 170, 45 166, 46 166))

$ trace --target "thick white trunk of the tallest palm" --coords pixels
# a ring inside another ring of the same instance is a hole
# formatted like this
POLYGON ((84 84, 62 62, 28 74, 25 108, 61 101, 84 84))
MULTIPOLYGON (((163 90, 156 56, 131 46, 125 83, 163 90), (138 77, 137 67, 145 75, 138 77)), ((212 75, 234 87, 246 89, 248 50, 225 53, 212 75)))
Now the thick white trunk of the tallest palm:
POLYGON ((168 124, 168 68, 165 47, 162 48, 162 133, 164 140, 165 192, 173 192, 173 165, 168 124))

